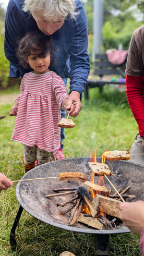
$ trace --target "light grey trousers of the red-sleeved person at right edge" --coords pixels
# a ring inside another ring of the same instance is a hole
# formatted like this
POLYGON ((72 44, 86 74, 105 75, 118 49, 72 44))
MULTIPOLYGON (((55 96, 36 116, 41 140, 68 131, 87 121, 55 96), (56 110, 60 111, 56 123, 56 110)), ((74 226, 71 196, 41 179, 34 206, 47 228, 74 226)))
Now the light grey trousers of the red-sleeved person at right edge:
MULTIPOLYGON (((130 150, 130 154, 144 154, 144 149, 142 147, 142 138, 139 134, 136 135, 135 141, 130 150)), ((144 165, 144 155, 132 155, 129 161, 144 165)))

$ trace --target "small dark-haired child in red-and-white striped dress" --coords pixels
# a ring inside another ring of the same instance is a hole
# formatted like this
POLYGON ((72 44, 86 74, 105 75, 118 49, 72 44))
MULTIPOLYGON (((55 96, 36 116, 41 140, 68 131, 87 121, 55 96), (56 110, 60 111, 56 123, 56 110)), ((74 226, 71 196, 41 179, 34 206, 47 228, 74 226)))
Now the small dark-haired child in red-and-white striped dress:
POLYGON ((74 104, 68 106, 69 94, 62 78, 50 71, 55 61, 53 43, 42 32, 28 32, 19 40, 17 57, 24 67, 33 71, 25 73, 21 82, 21 94, 15 101, 10 115, 16 115, 12 140, 24 145, 25 172, 50 161, 50 152, 60 148, 60 108, 70 115, 74 104))

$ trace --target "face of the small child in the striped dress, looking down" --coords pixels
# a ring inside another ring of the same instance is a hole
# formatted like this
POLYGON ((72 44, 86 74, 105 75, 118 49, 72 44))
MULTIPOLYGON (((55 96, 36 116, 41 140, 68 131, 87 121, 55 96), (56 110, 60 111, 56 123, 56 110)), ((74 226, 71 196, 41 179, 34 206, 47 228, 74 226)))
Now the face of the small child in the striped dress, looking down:
MULTIPOLYGON (((38 52, 36 52, 38 54, 38 52)), ((32 69, 34 69, 35 74, 43 74, 50 71, 48 69, 50 65, 50 53, 46 55, 37 57, 35 52, 30 52, 30 55, 27 57, 26 62, 29 63, 32 69)))

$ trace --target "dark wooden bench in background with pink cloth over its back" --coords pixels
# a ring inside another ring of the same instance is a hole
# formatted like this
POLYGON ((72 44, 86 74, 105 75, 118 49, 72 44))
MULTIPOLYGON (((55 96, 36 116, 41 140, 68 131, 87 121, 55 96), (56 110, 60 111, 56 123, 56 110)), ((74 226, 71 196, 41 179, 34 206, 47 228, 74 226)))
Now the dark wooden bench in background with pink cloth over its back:
POLYGON ((84 98, 88 99, 88 90, 90 88, 98 87, 99 92, 101 93, 104 85, 125 85, 126 61, 127 57, 122 64, 114 65, 108 61, 107 54, 96 54, 94 75, 97 75, 97 79, 87 80, 84 89, 84 98), (107 78, 103 78, 104 75, 117 75, 119 78, 117 81, 114 81, 114 79, 108 80, 107 78))

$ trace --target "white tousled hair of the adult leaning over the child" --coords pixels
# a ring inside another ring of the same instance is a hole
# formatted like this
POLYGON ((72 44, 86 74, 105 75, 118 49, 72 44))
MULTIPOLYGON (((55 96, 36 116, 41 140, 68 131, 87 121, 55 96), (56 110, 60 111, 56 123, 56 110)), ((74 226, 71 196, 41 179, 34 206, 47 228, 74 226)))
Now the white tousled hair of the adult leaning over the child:
POLYGON ((76 10, 76 0, 24 0, 23 11, 32 16, 42 16, 51 19, 75 19, 79 14, 76 10))

